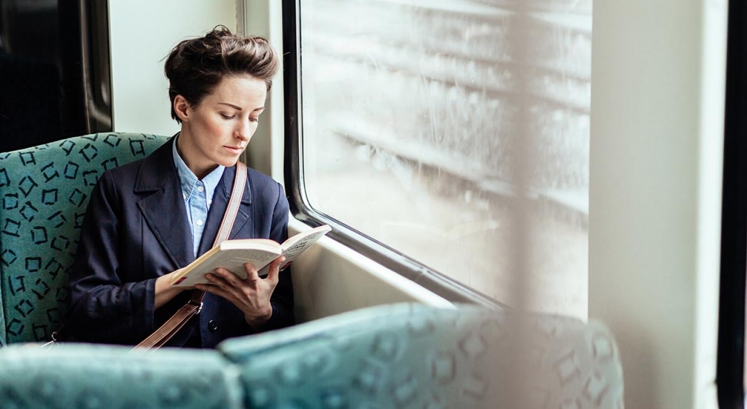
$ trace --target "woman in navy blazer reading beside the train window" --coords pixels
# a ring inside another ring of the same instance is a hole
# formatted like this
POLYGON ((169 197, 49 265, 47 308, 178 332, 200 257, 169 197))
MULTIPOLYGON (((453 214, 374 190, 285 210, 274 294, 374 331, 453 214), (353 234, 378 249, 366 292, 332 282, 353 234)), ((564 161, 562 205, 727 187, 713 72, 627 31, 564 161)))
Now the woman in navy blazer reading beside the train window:
MULTIPOLYGON (((170 287, 176 270, 212 247, 273 76, 276 52, 261 37, 220 27, 179 43, 167 57, 171 116, 182 130, 149 157, 111 169, 93 190, 75 263, 67 323, 77 340, 134 345, 190 299, 170 287)), ((288 202, 273 179, 248 169, 229 238, 287 238, 288 202)), ((294 322, 282 257, 259 278, 224 269, 200 285, 202 312, 167 346, 212 348, 221 340, 294 322)))

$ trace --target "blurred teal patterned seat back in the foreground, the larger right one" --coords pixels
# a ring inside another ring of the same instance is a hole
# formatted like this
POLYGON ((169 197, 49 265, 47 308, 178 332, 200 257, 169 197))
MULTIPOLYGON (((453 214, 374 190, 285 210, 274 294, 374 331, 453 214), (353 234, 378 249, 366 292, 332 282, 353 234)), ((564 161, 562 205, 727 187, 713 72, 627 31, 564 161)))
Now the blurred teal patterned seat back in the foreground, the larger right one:
POLYGON ((604 325, 382 305, 218 346, 255 409, 622 409, 604 325))

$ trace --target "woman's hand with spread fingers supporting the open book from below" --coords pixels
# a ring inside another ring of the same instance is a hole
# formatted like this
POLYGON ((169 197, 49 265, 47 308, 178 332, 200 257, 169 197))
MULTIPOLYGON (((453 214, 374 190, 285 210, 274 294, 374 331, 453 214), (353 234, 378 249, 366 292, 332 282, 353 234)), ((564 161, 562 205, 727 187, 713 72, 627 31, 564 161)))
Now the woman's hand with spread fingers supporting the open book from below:
POLYGON ((211 285, 197 284, 197 290, 206 291, 229 300, 243 313, 252 328, 259 328, 273 315, 270 296, 278 284, 279 267, 285 260, 280 256, 270 263, 267 277, 260 278, 257 269, 251 263, 244 264, 247 278, 242 280, 226 269, 216 269, 214 273, 205 274, 211 285))

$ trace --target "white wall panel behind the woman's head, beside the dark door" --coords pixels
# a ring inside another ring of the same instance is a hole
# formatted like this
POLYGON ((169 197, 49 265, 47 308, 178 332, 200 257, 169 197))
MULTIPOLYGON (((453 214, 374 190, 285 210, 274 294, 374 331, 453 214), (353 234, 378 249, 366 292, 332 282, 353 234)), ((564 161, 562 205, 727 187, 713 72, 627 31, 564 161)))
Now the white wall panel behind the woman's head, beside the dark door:
POLYGON ((234 0, 110 0, 114 131, 171 135, 165 57, 216 25, 236 29, 234 0))

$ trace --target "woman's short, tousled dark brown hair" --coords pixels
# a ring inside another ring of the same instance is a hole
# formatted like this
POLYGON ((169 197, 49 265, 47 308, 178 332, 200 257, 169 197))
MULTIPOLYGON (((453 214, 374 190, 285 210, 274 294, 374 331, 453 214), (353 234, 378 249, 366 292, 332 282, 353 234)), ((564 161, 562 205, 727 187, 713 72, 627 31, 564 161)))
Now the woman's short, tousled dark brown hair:
POLYGON ((275 50, 263 37, 241 37, 219 25, 205 37, 183 40, 169 53, 164 73, 169 78, 171 117, 176 122, 174 99, 183 96, 196 106, 226 77, 251 75, 272 86, 279 66, 275 50))

